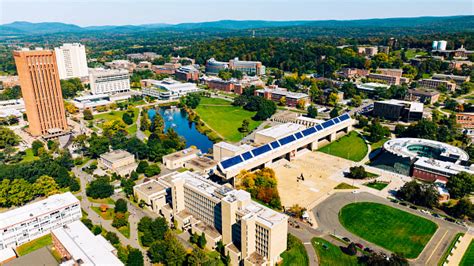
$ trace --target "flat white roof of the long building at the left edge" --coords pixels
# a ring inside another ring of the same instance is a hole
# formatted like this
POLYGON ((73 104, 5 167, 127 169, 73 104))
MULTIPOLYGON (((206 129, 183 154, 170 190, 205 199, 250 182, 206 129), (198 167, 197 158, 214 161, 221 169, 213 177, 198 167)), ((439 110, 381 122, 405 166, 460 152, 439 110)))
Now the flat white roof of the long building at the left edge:
POLYGON ((49 196, 44 200, 0 213, 0 229, 34 219, 37 216, 53 212, 75 203, 79 204, 79 200, 74 197, 71 192, 49 196))

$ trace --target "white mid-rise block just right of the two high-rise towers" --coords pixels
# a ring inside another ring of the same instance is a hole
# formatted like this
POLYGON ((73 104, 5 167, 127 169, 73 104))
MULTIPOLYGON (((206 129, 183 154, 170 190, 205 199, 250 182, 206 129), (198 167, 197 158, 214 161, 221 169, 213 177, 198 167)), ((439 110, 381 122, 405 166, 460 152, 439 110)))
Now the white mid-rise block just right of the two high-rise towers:
POLYGON ((127 70, 91 69, 89 81, 92 94, 113 95, 130 91, 130 76, 127 70))

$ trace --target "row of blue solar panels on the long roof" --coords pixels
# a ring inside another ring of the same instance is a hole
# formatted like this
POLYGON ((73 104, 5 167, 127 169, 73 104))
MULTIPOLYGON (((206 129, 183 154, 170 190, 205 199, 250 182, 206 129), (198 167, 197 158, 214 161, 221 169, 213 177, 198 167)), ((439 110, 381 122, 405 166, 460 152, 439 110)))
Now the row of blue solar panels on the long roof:
POLYGON ((277 149, 280 146, 287 145, 287 144, 289 144, 293 141, 296 141, 298 139, 307 137, 307 136, 312 135, 312 134, 314 134, 318 131, 321 131, 323 129, 332 127, 334 125, 337 125, 337 124, 339 124, 343 121, 346 121, 348 119, 350 119, 349 114, 347 114, 347 113, 343 114, 343 115, 335 117, 331 120, 325 121, 322 124, 318 124, 314 127, 304 129, 302 131, 296 132, 293 135, 283 137, 283 138, 278 139, 278 140, 276 140, 272 143, 262 145, 260 147, 257 147, 255 149, 251 150, 251 151, 248 151, 248 152, 245 152, 243 154, 239 154, 237 156, 234 156, 234 157, 231 157, 231 158, 226 159, 224 161, 221 161, 220 164, 221 164, 223 169, 227 169, 227 168, 232 167, 236 164, 242 163, 242 162, 250 160, 250 159, 252 159, 256 156, 259 156, 259 155, 262 155, 262 154, 267 153, 269 151, 272 151, 274 149, 277 149))

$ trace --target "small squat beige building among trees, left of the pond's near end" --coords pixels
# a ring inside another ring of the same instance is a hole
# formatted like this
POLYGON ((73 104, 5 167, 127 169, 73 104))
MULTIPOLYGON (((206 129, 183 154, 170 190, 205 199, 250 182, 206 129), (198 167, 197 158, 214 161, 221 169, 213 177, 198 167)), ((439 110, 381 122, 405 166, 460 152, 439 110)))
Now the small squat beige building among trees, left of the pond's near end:
POLYGON ((99 166, 118 175, 129 175, 137 168, 133 154, 124 150, 114 150, 104 153, 99 158, 99 166))

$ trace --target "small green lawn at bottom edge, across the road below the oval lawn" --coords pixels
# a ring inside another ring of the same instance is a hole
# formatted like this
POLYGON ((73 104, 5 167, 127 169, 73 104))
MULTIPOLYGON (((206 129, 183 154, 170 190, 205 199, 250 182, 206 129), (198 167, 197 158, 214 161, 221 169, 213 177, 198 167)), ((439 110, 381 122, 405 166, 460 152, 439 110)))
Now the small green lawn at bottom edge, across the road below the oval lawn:
POLYGON ((341 251, 341 249, 319 237, 311 239, 314 250, 318 255, 319 265, 321 266, 352 266, 358 265, 356 256, 349 256, 341 251))

